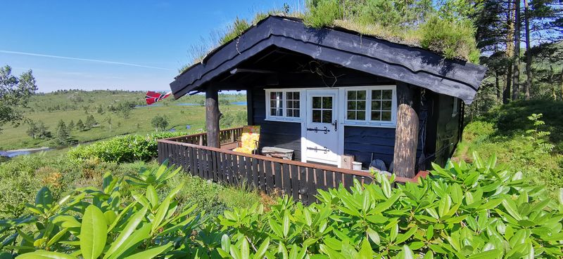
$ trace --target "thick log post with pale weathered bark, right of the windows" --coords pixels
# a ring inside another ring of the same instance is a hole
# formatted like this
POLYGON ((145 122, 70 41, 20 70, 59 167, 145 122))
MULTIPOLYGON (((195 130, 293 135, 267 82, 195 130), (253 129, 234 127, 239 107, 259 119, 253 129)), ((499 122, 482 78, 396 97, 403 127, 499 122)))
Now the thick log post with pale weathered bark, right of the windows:
POLYGON ((415 91, 411 86, 397 86, 397 126, 395 129, 395 150, 393 172, 397 176, 414 178, 418 145, 418 114, 413 109, 415 91))

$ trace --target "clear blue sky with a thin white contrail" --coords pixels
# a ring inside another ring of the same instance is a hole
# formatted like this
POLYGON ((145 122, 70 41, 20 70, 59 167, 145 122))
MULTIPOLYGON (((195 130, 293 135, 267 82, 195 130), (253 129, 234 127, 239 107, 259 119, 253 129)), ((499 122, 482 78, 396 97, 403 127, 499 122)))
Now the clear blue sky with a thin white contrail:
POLYGON ((3 1, 0 65, 32 69, 39 91, 167 90, 191 44, 238 15, 303 0, 3 1))

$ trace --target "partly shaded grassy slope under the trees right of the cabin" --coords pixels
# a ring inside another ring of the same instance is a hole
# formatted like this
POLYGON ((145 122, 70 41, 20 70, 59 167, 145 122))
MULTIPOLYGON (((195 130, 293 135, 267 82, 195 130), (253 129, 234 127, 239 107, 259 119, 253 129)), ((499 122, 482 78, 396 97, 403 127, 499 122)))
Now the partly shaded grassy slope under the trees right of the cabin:
POLYGON ((472 152, 483 157, 497 155, 498 161, 539 184, 555 196, 563 187, 563 102, 531 100, 511 102, 469 121, 455 159, 472 161, 472 152), (534 126, 531 114, 543 114, 545 125, 534 126), (540 137, 529 130, 550 132, 540 137), (542 143, 545 142, 545 143, 542 143), (553 145, 552 151, 543 144, 553 145))

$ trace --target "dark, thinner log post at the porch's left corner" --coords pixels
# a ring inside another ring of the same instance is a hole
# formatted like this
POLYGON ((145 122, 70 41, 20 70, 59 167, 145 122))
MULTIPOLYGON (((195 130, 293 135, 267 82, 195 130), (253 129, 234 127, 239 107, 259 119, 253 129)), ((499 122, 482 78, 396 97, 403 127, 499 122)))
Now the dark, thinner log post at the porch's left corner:
POLYGON ((219 93, 210 86, 205 91, 205 128, 208 147, 220 147, 219 143, 219 93))

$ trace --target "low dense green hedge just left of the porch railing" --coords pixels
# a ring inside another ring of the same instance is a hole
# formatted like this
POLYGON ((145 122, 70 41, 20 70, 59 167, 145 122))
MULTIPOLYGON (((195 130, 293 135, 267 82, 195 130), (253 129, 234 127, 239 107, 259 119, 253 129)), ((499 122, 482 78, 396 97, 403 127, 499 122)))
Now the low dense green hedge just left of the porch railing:
POLYGON ((149 135, 122 135, 110 140, 78 146, 68 152, 71 159, 99 158, 102 161, 148 161, 157 155, 156 140, 185 135, 183 132, 163 132, 149 135))

